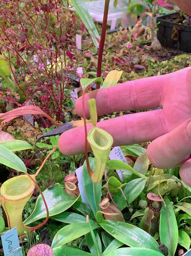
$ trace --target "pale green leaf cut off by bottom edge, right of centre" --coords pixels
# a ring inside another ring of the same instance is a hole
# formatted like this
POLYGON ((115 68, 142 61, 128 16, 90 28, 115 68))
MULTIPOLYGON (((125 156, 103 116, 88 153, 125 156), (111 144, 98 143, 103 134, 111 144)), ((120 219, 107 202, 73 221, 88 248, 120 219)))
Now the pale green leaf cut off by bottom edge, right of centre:
MULTIPOLYGON (((102 254, 103 255, 103 254, 102 254)), ((120 248, 110 251, 105 256, 162 256, 162 253, 146 248, 120 248)))

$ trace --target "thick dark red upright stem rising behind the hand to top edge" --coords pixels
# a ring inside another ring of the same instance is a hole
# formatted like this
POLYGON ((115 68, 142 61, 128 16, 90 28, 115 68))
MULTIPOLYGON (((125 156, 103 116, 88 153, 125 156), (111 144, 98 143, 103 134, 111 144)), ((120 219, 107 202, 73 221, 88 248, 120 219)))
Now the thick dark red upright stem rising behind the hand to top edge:
MULTIPOLYGON (((105 34, 106 34, 106 30, 107 30, 107 17, 108 17, 108 10, 109 10, 109 2, 110 2, 110 0, 105 0, 102 35, 101 35, 100 44, 99 44, 99 54, 98 54, 98 62, 97 62, 97 77, 101 76, 102 56, 103 56, 103 51, 104 51, 105 34)), ((100 88, 100 84, 96 83, 96 89, 99 89, 99 88, 100 88)))

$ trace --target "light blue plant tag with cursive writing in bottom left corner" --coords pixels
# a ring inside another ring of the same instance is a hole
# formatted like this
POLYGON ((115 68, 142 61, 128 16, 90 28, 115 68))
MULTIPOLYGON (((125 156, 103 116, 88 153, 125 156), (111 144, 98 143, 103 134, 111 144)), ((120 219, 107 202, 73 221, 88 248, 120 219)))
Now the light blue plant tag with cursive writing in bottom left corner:
MULTIPOLYGON (((3 251, 5 256, 7 255, 15 255, 15 256, 22 256, 22 250, 21 254, 10 254, 14 252, 15 250, 19 249, 19 239, 18 239, 18 233, 16 227, 5 232, 3 235, 1 235, 2 244, 3 244, 3 251)), ((15 252, 16 253, 16 252, 15 252)))

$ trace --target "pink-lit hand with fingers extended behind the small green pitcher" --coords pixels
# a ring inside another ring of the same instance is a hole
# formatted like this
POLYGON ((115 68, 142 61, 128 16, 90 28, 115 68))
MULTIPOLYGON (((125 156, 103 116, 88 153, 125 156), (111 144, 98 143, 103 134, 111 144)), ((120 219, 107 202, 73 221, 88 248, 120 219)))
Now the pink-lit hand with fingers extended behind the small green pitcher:
MULTIPOLYGON (((99 116, 162 106, 163 109, 108 119, 97 126, 113 136, 114 146, 152 141, 147 155, 155 167, 173 168, 185 162, 180 176, 191 186, 191 68, 92 91, 85 95, 87 117, 87 101, 91 98, 96 99, 99 116)), ((76 101, 75 109, 79 116, 83 115, 82 97, 76 101)), ((87 125, 87 130, 91 127, 87 125)), ((60 151, 65 155, 83 153, 84 136, 84 127, 64 132, 58 142, 60 151)))

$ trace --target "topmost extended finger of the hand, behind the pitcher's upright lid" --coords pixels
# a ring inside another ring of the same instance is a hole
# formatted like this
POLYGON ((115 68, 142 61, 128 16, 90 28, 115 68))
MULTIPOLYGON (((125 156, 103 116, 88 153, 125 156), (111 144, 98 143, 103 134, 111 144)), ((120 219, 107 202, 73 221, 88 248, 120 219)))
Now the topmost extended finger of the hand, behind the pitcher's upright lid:
MULTIPOLYGON (((162 106, 162 87, 166 75, 128 81, 102 88, 85 95, 85 112, 89 116, 87 101, 96 99, 97 114, 115 111, 144 110, 162 106)), ((76 113, 83 116, 82 97, 75 104, 76 113)))

